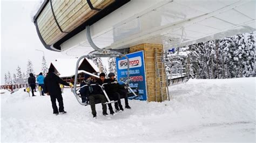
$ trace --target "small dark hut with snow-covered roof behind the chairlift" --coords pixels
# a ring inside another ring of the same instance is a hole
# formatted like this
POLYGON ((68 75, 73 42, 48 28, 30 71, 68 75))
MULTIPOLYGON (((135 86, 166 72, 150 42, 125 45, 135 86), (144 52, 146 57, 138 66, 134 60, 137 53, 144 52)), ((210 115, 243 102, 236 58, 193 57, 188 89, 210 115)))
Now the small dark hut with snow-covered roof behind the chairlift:
MULTIPOLYGON (((62 80, 73 83, 75 81, 77 59, 56 59, 51 62, 50 67, 55 68, 55 74, 62 80)), ((78 67, 78 83, 83 80, 84 74, 99 73, 99 68, 87 58, 81 60, 78 67)))

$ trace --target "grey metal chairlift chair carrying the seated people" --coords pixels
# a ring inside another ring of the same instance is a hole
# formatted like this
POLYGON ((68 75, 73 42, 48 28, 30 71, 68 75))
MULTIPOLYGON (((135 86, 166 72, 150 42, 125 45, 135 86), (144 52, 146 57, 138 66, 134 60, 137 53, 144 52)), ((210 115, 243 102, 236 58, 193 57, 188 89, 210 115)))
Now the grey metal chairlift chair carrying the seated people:
MULTIPOLYGON (((116 58, 116 57, 118 57, 118 58, 123 58, 123 57, 124 57, 124 58, 127 60, 127 63, 129 63, 129 58, 128 58, 126 55, 124 55, 124 54, 122 54, 122 53, 120 53, 120 52, 112 51, 111 49, 100 49, 100 48, 98 48, 98 47, 94 44, 94 42, 92 41, 92 39, 91 39, 90 26, 86 26, 86 37, 87 37, 87 41, 89 42, 89 44, 91 45, 91 47, 92 47, 93 49, 95 49, 95 51, 92 51, 92 52, 90 52, 89 54, 80 56, 80 57, 78 58, 77 63, 76 63, 75 82, 74 82, 74 85, 73 85, 74 87, 71 89, 71 91, 72 91, 73 94, 75 95, 75 97, 76 97, 78 103, 79 103, 80 105, 83 105, 83 106, 86 106, 86 105, 88 105, 88 104, 87 104, 87 103, 83 103, 83 102, 81 101, 81 99, 79 99, 79 98, 80 98, 80 95, 79 95, 77 92, 78 92, 79 89, 84 88, 84 87, 89 86, 89 85, 84 85, 83 87, 80 87, 80 88, 77 89, 78 67, 79 67, 79 62, 80 62, 80 60, 82 60, 82 59, 84 59, 84 58, 93 59, 93 58, 102 58, 102 57, 110 57, 110 58, 116 58)), ((90 74, 90 75, 95 76, 95 77, 98 77, 98 76, 93 75, 93 74, 90 74)), ((119 82, 119 83, 124 83, 124 84, 127 86, 127 88, 130 90, 130 94, 128 94, 129 97, 131 97, 131 96, 134 96, 134 98, 138 97, 138 96, 139 96, 138 89, 134 89, 134 90, 136 90, 136 92, 134 92, 133 89, 129 86, 129 81, 130 81, 130 80, 129 80, 129 79, 130 79, 130 65, 129 65, 129 64, 127 64, 127 79, 128 79, 128 80, 126 80, 126 82, 123 82, 123 81, 122 81, 122 82, 119 82), (136 93, 137 93, 137 94, 136 94, 136 93)), ((111 83, 111 84, 114 84, 114 82, 111 83)), ((96 86, 96 84, 90 84, 90 85, 91 85, 91 86, 96 86)), ((105 85, 105 84, 104 84, 104 85, 105 85)), ((113 103, 114 101, 110 101, 109 96, 107 96, 107 94, 106 94, 106 92, 105 92, 105 89, 104 89, 104 85, 102 85, 102 86, 99 85, 99 86, 100 86, 100 88, 102 89, 102 91, 103 91, 103 93, 104 93, 104 95, 105 95, 105 97, 106 97, 106 99, 107 99, 107 102, 106 102, 105 104, 113 103)), ((133 98, 132 98, 132 99, 133 99, 133 98)), ((95 103, 97 104, 97 103, 100 103, 100 102, 99 102, 99 101, 95 101, 95 103)))

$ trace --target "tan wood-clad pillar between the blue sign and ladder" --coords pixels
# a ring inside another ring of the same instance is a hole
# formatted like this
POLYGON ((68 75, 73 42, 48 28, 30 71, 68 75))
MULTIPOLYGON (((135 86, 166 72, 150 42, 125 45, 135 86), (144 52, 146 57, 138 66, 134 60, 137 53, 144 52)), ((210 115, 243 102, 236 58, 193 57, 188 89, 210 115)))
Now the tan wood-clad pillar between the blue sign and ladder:
MULTIPOLYGON (((130 47, 130 53, 144 50, 144 61, 145 61, 145 71, 146 71, 146 86, 147 86, 147 101, 157 101, 161 102, 160 96, 156 99, 156 90, 157 95, 160 95, 160 87, 156 89, 156 52, 164 52, 163 45, 160 44, 140 44, 137 46, 130 47)), ((159 54, 160 55, 160 54, 159 54)), ((166 73, 165 77, 166 78, 166 73)), ((157 81, 159 82, 159 81, 157 81)), ((166 84, 163 87, 163 93, 166 93, 166 84)), ((164 95, 164 100, 167 99, 167 96, 164 95)))

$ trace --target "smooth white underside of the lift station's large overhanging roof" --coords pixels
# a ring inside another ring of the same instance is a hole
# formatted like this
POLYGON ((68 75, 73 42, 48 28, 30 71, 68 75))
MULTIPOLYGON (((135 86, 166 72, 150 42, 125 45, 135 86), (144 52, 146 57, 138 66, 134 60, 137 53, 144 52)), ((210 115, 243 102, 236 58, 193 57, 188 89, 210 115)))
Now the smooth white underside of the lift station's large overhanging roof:
MULTIPOLYGON (((100 48, 120 49, 142 43, 165 49, 255 31, 255 1, 131 1, 91 25, 100 48), (122 13, 122 14, 120 14, 122 13)), ((85 30, 62 45, 67 55, 93 49, 85 30)))

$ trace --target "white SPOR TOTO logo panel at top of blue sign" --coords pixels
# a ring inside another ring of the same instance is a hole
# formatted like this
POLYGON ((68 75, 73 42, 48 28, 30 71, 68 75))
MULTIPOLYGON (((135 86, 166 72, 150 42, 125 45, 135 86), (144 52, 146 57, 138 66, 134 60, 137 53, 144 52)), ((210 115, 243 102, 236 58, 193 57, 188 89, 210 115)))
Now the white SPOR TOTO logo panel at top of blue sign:
MULTIPOLYGON (((137 68, 142 66, 142 58, 140 56, 136 56, 134 58, 129 59, 130 69, 137 68)), ((118 61, 118 69, 126 69, 127 68, 127 60, 119 60, 118 61)))

